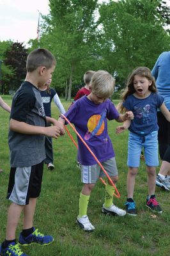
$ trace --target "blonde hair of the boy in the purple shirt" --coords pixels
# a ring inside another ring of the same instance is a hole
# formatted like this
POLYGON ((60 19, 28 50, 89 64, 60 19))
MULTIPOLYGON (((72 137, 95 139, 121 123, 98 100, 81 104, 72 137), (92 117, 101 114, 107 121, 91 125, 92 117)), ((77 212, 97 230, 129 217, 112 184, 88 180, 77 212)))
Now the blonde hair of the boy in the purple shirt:
POLYGON ((115 79, 107 71, 98 70, 91 78, 91 92, 97 97, 107 99, 114 92, 115 79))

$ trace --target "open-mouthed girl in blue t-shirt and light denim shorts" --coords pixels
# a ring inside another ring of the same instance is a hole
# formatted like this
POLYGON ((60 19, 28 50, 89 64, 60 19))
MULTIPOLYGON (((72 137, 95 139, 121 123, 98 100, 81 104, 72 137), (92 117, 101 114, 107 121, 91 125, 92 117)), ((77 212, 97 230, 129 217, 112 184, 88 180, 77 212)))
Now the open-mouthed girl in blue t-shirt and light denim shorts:
POLYGON ((127 120, 116 132, 129 129, 128 138, 128 175, 127 202, 125 208, 128 214, 136 215, 133 199, 135 176, 140 163, 140 154, 144 148, 146 171, 148 173, 148 196, 146 206, 154 212, 162 213, 162 209, 155 198, 156 168, 158 166, 158 124, 157 109, 170 122, 170 113, 164 104, 164 98, 157 93, 155 79, 150 69, 139 67, 128 78, 127 88, 123 93, 121 110, 132 111, 134 120, 127 120))

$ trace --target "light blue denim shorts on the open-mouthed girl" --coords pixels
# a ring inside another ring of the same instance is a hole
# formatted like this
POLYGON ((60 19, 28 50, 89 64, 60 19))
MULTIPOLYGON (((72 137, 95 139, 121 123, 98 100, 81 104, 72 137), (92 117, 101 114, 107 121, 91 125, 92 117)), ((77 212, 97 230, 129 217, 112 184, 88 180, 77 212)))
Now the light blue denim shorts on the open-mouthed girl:
POLYGON ((129 133, 128 167, 139 167, 142 148, 144 148, 146 165, 158 166, 158 131, 153 131, 146 136, 129 133))

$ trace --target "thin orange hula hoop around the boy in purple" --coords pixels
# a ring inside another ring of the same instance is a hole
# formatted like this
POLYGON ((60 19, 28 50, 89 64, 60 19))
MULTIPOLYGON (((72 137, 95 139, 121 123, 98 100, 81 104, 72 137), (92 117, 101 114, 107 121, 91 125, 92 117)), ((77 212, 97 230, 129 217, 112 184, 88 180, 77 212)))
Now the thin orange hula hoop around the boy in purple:
MULTIPOLYGON (((109 181, 111 182, 113 188, 115 189, 115 193, 114 196, 116 196, 117 198, 120 198, 120 193, 118 191, 118 189, 116 188, 116 186, 114 185, 114 183, 112 182, 111 178, 109 177, 109 174, 106 172, 106 170, 104 169, 104 166, 102 166, 102 164, 98 161, 97 157, 95 156, 95 154, 91 151, 91 149, 89 148, 89 146, 86 144, 86 142, 83 140, 83 138, 81 137, 81 135, 79 134, 79 132, 77 132, 77 130, 75 129, 75 127, 73 127, 73 125, 70 123, 70 121, 68 120, 68 118, 66 118, 65 115, 61 114, 61 116, 63 116, 63 118, 65 118, 66 122, 68 122, 68 124, 72 127, 73 131, 77 134, 77 136, 79 136, 79 138, 81 139, 82 143, 86 146, 86 148, 88 148, 89 152, 91 153, 91 155, 95 158, 95 160, 97 161, 97 163, 99 164, 99 166, 102 168, 102 171, 105 173, 105 175, 107 176, 107 179, 109 179, 109 181)), ((75 142, 75 140, 73 140, 72 135, 70 134, 70 132, 68 131, 66 125, 65 125, 65 129, 68 133, 68 136, 70 136, 70 139, 73 141, 73 144, 75 145, 75 147, 78 148, 77 143, 75 142)), ((104 185, 106 185, 105 181, 100 177, 100 180, 104 183, 104 185)))

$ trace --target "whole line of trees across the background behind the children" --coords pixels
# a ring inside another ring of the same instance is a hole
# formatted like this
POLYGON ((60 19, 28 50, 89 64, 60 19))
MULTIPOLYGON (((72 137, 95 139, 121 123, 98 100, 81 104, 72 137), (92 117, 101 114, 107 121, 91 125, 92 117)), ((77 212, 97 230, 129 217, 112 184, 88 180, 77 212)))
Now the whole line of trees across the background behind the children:
MULTIPOLYGON (((52 86, 70 100, 83 86, 87 70, 107 70, 118 93, 128 74, 139 66, 152 68, 169 51, 170 8, 160 0, 49 0, 42 15, 40 47, 58 62, 52 86)), ((0 42, 1 93, 17 90, 26 76, 26 57, 38 41, 0 42)), ((117 94, 118 94, 117 93, 117 94)))

